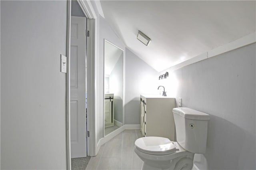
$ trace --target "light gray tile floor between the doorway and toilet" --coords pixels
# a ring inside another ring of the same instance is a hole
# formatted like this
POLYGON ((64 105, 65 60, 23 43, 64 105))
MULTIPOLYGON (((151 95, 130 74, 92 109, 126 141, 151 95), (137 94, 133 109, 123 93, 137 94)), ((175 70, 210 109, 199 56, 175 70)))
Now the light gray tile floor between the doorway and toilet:
POLYGON ((124 130, 100 147, 86 170, 141 170, 142 160, 134 152, 134 142, 140 137, 140 130, 124 130))

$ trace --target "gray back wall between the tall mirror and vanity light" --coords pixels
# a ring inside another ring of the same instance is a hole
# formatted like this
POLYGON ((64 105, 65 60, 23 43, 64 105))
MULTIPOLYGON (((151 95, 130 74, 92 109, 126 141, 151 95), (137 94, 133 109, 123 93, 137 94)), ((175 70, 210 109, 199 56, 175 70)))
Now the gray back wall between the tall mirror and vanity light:
POLYGON ((157 91, 158 72, 126 48, 125 124, 140 124, 140 94, 157 91))

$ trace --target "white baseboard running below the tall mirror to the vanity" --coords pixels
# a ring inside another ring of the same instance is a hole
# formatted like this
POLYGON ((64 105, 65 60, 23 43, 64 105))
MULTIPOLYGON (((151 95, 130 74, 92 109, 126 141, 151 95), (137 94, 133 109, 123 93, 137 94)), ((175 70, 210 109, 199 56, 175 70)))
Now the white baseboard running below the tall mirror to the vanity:
POLYGON ((118 129, 114 130, 113 132, 111 132, 110 134, 108 134, 107 136, 105 136, 99 140, 99 142, 97 143, 97 154, 98 154, 100 146, 102 146, 102 144, 108 142, 109 140, 114 138, 116 135, 118 135, 122 131, 124 131, 124 130, 139 130, 139 129, 140 129, 140 125, 124 125, 118 129))

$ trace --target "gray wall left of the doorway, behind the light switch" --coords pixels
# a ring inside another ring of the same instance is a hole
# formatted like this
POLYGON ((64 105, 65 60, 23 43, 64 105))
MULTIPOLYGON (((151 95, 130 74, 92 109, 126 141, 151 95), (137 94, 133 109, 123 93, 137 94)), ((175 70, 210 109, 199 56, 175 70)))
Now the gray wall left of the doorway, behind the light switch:
POLYGON ((67 1, 1 1, 1 169, 66 169, 67 1))

